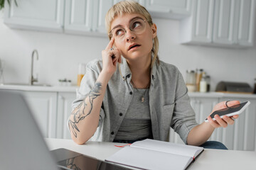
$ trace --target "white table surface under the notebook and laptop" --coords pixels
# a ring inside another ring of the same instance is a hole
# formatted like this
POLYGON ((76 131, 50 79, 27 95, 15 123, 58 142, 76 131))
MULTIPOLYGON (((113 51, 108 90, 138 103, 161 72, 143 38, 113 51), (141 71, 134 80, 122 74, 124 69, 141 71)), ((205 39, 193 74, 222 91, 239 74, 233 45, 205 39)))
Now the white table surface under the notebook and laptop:
MULTIPOLYGON (((85 154, 90 157, 95 157, 104 161, 107 157, 117 152, 119 147, 114 145, 124 145, 112 142, 91 142, 88 141, 85 145, 77 145, 73 140, 61 140, 46 138, 46 143, 50 150, 65 148, 70 149, 80 154, 85 154)), ((202 170, 222 170, 222 169, 256 169, 256 152, 251 151, 235 151, 235 150, 218 150, 205 149, 198 156, 195 162, 188 169, 202 170)))

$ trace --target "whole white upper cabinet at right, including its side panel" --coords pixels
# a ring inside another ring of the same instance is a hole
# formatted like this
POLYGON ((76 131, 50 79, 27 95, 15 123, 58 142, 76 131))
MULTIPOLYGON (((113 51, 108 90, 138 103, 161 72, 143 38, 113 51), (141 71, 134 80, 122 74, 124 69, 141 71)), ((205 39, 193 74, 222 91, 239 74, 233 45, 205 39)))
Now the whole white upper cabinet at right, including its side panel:
POLYGON ((254 0, 193 0, 192 15, 181 21, 181 43, 252 47, 254 0))

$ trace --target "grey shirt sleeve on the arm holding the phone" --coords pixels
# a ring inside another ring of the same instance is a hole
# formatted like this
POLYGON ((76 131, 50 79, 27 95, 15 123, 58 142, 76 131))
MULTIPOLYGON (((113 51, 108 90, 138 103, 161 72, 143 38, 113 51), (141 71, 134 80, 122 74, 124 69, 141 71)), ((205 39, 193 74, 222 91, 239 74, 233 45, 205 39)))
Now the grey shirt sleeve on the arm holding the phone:
POLYGON ((191 107, 186 84, 178 69, 177 72, 175 106, 173 118, 171 120, 171 128, 173 128, 181 137, 181 140, 187 144, 188 133, 192 128, 198 125, 198 123, 196 123, 196 114, 191 107))

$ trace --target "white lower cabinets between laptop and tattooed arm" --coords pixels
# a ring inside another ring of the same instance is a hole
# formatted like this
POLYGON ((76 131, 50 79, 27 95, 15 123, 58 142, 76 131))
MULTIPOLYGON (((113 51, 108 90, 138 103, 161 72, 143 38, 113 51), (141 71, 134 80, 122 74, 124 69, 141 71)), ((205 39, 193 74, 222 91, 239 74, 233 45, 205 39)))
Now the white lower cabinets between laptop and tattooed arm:
POLYGON ((43 137, 71 139, 67 120, 75 92, 23 91, 43 137))

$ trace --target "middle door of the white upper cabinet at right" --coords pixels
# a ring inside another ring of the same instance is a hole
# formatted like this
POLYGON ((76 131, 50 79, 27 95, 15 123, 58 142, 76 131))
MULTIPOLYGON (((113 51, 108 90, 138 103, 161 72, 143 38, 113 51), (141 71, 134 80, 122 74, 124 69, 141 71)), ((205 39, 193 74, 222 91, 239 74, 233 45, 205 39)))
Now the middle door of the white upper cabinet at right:
POLYGON ((215 0, 213 42, 233 44, 237 0, 215 0))

